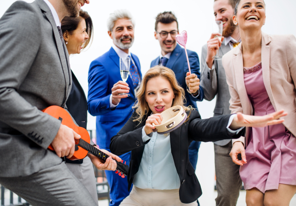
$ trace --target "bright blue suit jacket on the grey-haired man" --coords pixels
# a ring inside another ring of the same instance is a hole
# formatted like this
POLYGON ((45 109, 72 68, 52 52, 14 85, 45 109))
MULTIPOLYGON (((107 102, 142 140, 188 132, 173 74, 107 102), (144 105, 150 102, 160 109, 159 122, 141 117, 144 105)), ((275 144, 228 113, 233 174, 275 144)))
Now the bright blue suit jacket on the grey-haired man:
MULTIPOLYGON (((142 79, 139 59, 131 54, 142 79)), ((136 101, 134 86, 129 76, 126 83, 130 88, 130 97, 121 99, 118 106, 110 108, 110 95, 113 85, 122 80, 120 76, 119 57, 111 49, 94 60, 88 71, 88 111, 97 116, 97 144, 102 149, 110 147, 110 139, 124 126, 133 113, 136 101)))

